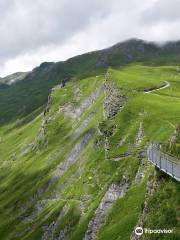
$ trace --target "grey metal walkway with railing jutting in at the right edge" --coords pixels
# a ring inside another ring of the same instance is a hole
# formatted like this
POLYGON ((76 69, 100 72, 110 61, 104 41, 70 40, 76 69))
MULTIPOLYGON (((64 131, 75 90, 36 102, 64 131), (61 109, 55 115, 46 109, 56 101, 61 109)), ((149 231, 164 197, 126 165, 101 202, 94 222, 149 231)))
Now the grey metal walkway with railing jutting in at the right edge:
POLYGON ((147 157, 148 160, 156 165, 161 171, 180 182, 180 160, 163 153, 158 144, 150 144, 147 149, 147 157))

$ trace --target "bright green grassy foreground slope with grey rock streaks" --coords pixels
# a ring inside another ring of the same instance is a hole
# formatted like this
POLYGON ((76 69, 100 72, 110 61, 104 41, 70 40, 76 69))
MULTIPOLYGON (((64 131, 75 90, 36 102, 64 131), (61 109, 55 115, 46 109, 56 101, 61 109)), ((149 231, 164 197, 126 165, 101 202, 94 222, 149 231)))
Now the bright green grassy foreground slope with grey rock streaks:
POLYGON ((173 66, 108 68, 57 85, 43 112, 2 126, 1 239, 132 240, 140 223, 174 230, 142 239, 179 239, 180 185, 145 155, 179 123, 179 89, 173 66))

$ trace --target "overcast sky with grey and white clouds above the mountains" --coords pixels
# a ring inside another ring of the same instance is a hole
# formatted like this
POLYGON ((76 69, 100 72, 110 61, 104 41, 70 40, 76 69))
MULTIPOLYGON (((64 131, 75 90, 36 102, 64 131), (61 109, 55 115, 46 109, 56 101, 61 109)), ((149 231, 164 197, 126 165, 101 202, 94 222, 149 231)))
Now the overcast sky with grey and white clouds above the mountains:
POLYGON ((0 0, 0 76, 128 38, 180 39, 180 0, 0 0))

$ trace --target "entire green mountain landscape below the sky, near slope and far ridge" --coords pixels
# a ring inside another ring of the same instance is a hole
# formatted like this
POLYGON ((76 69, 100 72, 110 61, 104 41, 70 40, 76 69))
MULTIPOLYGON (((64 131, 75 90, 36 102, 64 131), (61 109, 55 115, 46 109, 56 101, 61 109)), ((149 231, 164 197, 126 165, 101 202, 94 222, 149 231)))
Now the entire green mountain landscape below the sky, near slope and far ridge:
POLYGON ((180 239, 179 59, 130 39, 0 78, 1 240, 180 239))

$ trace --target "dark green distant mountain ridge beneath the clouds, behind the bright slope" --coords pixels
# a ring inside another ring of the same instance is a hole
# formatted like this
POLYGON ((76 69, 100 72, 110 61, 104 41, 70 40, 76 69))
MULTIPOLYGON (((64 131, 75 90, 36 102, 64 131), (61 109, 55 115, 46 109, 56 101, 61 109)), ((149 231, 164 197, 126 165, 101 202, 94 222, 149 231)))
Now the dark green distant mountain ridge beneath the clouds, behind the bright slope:
POLYGON ((73 80, 104 73, 107 67, 120 67, 132 62, 149 65, 179 63, 180 42, 159 46, 131 39, 105 50, 71 58, 65 62, 43 63, 23 81, 0 87, 0 124, 28 116, 42 107, 50 89, 63 80, 73 80))

